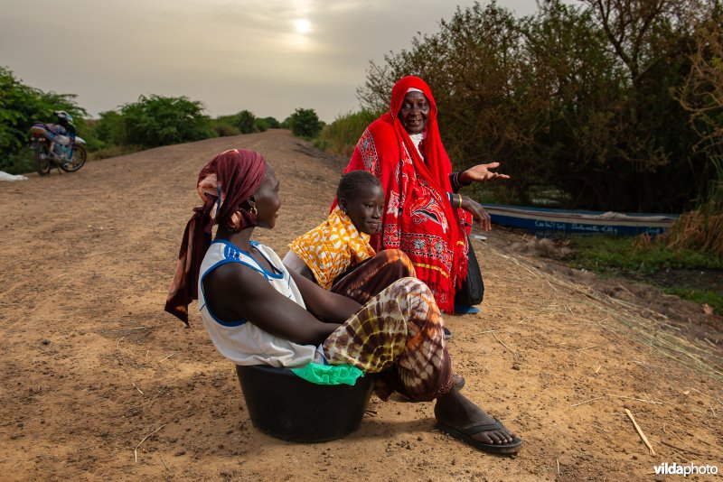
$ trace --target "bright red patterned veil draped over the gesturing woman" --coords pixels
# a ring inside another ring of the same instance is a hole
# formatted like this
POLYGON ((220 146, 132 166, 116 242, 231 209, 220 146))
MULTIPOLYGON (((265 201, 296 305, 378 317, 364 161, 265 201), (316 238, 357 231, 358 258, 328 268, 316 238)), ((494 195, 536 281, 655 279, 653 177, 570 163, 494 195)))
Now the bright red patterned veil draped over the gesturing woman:
POLYGON ((455 288, 467 272, 467 243, 463 224, 470 215, 452 208, 449 161, 439 135, 437 103, 427 83, 418 77, 399 79, 391 90, 390 111, 371 123, 356 145, 344 173, 363 169, 377 176, 386 192, 382 226, 371 246, 404 251, 415 265, 418 278, 427 283, 439 308, 454 312, 455 288), (417 152, 399 109, 409 88, 427 97, 429 115, 425 138, 417 152))

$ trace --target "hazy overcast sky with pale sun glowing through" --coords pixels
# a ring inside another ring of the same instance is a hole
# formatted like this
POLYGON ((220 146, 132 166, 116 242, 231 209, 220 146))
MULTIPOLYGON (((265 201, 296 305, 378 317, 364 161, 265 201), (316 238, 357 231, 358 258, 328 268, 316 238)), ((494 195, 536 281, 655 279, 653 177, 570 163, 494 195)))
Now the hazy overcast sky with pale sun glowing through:
MULTIPOLYGON (((487 4, 487 0, 481 2, 487 4)), ((200 100, 211 116, 283 120, 356 110, 369 61, 434 33, 472 0, 0 0, 0 66, 78 95, 91 116, 140 95, 200 100)), ((534 0, 499 0, 518 16, 534 0)))

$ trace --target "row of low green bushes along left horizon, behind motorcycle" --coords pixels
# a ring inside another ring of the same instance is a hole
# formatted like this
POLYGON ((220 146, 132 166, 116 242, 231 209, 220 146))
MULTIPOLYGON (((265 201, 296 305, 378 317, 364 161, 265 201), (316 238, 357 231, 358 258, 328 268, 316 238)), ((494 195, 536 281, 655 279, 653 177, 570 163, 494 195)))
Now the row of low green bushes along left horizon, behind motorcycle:
POLYGON ((314 109, 297 108, 279 122, 257 117, 248 110, 211 118, 202 102, 188 97, 140 96, 136 102, 101 112, 91 119, 78 106, 74 94, 43 92, 16 79, 12 70, 0 66, 0 171, 33 171, 28 149, 29 129, 34 122, 55 122, 53 111, 73 116, 78 134, 96 159, 168 144, 200 141, 210 137, 250 134, 269 128, 287 128, 301 137, 314 137, 323 127, 314 109))

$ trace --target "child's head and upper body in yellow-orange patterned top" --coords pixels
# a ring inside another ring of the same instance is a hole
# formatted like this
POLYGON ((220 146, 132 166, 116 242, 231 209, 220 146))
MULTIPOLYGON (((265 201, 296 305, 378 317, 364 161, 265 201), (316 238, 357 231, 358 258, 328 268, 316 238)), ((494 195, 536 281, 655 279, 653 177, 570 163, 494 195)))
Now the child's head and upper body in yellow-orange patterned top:
POLYGON ((351 171, 339 182, 336 199, 329 217, 297 237, 284 257, 289 269, 327 290, 340 275, 376 255, 369 240, 380 226, 384 190, 370 172, 351 171))

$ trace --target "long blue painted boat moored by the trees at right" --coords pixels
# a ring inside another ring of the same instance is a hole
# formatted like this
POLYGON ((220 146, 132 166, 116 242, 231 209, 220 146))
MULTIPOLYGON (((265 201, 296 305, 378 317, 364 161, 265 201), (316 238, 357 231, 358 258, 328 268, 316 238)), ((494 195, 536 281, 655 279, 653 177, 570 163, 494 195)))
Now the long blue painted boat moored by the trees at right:
POLYGON ((570 234, 635 236, 659 235, 678 219, 675 214, 628 214, 612 211, 526 208, 483 204, 492 222, 520 227, 536 234, 564 231, 570 234))

